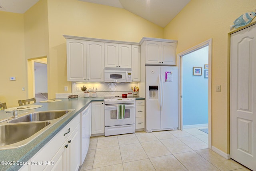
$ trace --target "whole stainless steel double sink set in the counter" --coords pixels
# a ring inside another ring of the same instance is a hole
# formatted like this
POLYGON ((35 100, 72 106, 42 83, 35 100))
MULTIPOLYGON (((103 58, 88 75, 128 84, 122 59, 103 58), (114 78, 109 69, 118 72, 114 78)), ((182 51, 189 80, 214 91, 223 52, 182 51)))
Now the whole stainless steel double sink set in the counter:
POLYGON ((26 145, 72 111, 74 109, 36 111, 22 113, 17 118, 10 117, 0 123, 0 149, 26 145))

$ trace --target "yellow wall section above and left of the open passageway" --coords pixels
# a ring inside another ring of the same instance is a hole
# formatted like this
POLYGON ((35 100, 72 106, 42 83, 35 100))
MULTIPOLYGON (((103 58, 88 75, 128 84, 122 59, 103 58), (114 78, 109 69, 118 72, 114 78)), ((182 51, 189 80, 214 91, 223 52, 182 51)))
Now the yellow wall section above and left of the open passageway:
MULTIPOLYGON (((49 57, 47 0, 40 0, 24 13, 25 59, 27 59, 27 98, 34 97, 34 62, 49 57)), ((49 68, 48 68, 49 69, 49 68)))

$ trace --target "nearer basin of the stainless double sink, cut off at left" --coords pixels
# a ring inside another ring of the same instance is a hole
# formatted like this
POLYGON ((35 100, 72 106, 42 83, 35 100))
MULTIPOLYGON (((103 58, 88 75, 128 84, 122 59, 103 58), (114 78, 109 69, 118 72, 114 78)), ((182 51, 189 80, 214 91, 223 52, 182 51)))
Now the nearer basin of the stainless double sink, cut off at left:
POLYGON ((46 121, 0 125, 0 147, 27 139, 50 123, 50 121, 46 121))

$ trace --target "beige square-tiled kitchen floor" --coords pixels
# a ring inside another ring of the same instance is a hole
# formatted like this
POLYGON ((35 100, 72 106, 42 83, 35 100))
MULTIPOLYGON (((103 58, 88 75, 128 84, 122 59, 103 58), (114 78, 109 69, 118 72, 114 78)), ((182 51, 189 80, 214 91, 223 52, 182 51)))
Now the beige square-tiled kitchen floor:
POLYGON ((208 149, 208 134, 184 131, 143 131, 91 137, 80 171, 249 171, 208 149))

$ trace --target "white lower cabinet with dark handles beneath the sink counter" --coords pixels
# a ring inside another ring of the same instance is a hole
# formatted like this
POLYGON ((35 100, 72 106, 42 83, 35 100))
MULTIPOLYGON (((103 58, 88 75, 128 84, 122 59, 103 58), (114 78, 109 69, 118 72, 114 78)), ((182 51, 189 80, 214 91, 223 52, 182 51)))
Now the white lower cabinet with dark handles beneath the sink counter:
POLYGON ((79 161, 80 115, 77 115, 30 159, 29 169, 77 171, 79 161))

